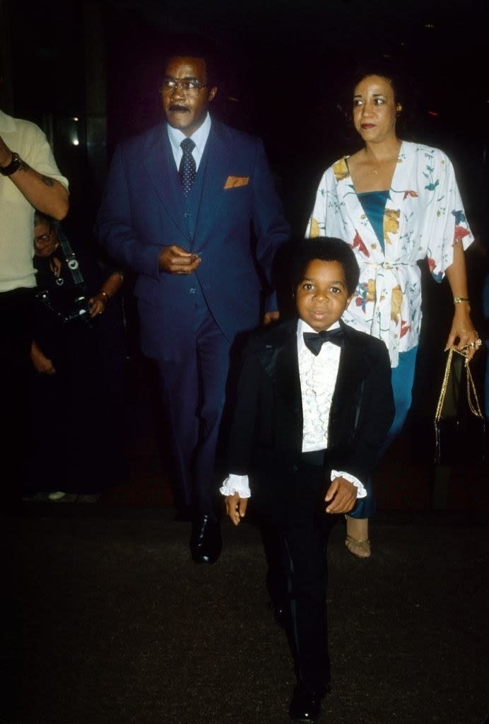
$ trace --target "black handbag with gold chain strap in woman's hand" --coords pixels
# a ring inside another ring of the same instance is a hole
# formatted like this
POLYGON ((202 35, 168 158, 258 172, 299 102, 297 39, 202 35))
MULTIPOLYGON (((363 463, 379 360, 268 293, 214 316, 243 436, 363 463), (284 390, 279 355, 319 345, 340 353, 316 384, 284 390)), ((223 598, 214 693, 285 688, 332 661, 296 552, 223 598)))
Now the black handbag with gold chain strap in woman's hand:
POLYGON ((485 419, 464 351, 448 350, 435 412, 435 463, 462 463, 485 458, 485 419))

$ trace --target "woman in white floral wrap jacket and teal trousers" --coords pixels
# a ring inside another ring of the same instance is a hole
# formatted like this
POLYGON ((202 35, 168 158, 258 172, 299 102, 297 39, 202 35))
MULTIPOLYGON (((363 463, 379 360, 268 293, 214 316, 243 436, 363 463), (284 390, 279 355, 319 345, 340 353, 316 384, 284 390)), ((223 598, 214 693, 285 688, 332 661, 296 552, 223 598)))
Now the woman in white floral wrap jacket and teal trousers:
MULTIPOLYGON (((360 265, 357 293, 344 313, 352 327, 383 340, 389 351, 396 418, 387 445, 404 424, 412 400, 421 326, 421 273, 426 258, 454 295, 447 348, 480 346, 469 316, 464 249, 473 241, 448 157, 436 148, 401 141, 396 117, 402 105, 390 75, 368 72, 354 85, 353 122, 364 142, 320 180, 306 236, 349 242, 360 265)), ((346 547, 370 555, 369 495, 346 516, 346 547)))

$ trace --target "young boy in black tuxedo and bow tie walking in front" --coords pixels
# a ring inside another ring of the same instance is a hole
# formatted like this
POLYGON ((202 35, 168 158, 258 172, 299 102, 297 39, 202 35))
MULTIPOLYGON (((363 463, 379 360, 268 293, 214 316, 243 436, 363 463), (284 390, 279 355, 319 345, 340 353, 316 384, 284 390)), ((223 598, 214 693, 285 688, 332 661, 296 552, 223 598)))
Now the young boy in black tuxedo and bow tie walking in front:
POLYGON ((394 401, 385 345, 340 319, 359 279, 349 245, 303 241, 293 271, 298 319, 258 330, 245 349, 221 493, 235 525, 251 495, 280 541, 286 593, 274 603, 289 608, 297 675, 289 713, 309 722, 330 684, 328 534, 365 497, 394 401))

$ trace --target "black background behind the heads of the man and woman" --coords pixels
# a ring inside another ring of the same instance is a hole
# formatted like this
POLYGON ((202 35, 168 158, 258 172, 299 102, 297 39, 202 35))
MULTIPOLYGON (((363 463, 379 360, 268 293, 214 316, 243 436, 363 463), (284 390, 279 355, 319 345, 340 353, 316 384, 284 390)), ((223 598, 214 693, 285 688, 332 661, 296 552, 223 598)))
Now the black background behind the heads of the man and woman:
MULTIPOLYGON (((93 242, 116 143, 161 119, 158 80, 169 37, 205 35, 222 59, 213 113, 263 138, 286 216, 301 236, 323 170, 357 146, 345 119, 352 66, 365 56, 390 56, 412 91, 404 137, 442 148, 454 163, 476 236, 467 253, 469 294, 475 326, 484 334, 484 6, 483 0, 0 0, 0 106, 46 131, 70 182, 64 227, 93 242)), ((431 367, 441 356, 453 308, 447 282, 440 288, 421 266, 425 322, 414 393, 420 407, 428 398, 431 404, 431 367)), ((130 299, 129 287, 126 293, 130 299)), ((130 301, 127 308, 130 320, 130 301)), ((482 375, 484 355, 477 356, 475 373, 482 375)))

